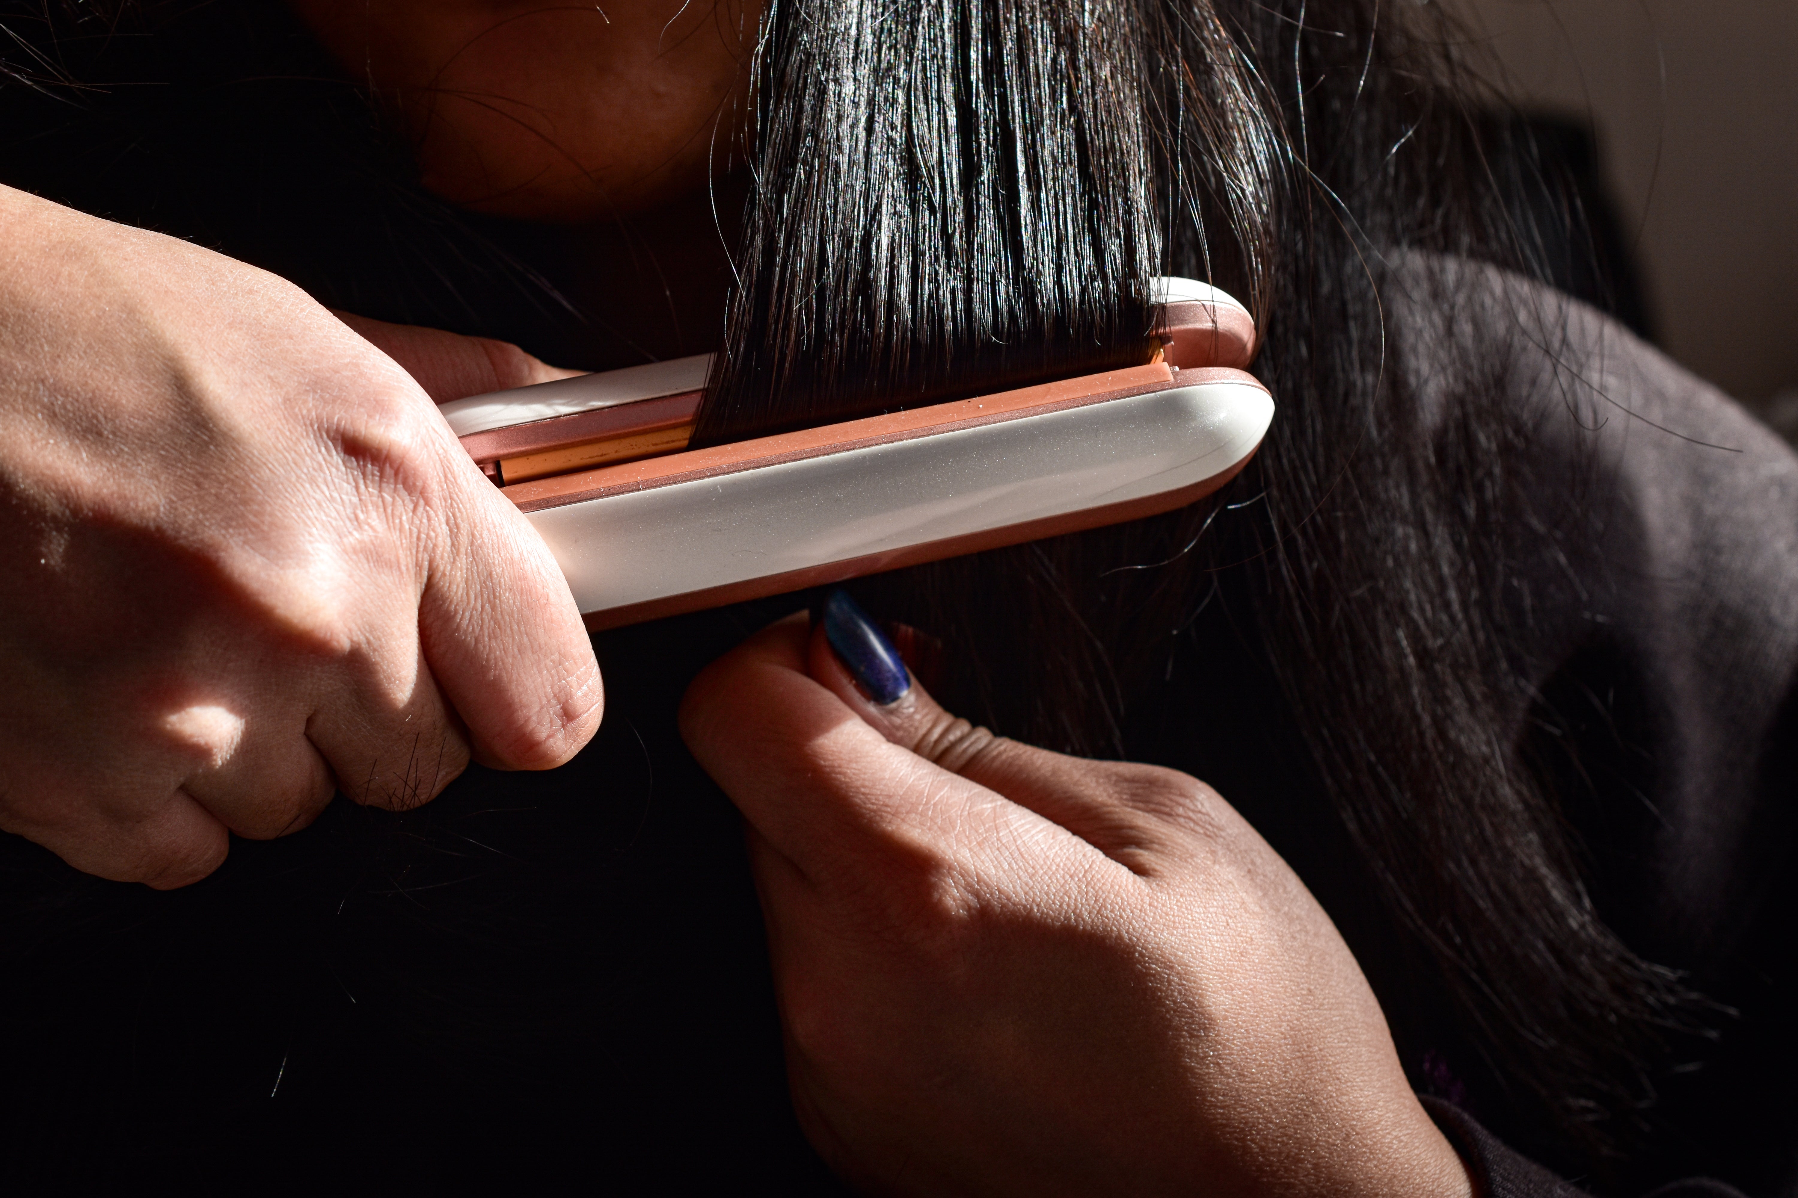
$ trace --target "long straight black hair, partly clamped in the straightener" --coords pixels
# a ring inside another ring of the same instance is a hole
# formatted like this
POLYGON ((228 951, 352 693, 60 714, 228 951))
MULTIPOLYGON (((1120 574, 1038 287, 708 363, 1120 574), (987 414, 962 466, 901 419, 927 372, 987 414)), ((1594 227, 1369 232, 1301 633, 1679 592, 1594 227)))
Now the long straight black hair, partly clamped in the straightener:
POLYGON ((1188 510, 892 575, 870 602, 944 641, 966 715, 1115 754, 1212 571, 1244 562, 1260 652, 1390 916, 1512 1101, 1593 1167, 1647 1126, 1688 997, 1597 916, 1501 740, 1527 702, 1503 562, 1544 481, 1528 429, 1473 343, 1424 427, 1381 311, 1395 253, 1541 273, 1568 228, 1507 210, 1491 162, 1519 147, 1473 119, 1447 18, 1404 9, 771 0, 699 436, 1142 361, 1154 273, 1246 298, 1280 402, 1253 521, 1201 535, 1212 512, 1188 510))

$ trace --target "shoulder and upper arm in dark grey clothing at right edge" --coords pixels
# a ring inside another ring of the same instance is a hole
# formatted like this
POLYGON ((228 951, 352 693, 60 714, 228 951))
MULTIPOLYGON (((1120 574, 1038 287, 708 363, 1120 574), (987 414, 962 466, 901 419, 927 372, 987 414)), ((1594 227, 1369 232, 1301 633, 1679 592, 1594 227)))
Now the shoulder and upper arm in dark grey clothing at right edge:
POLYGON ((1516 273, 1404 255, 1381 300, 1390 395, 1429 440, 1442 503, 1509 505, 1480 580, 1521 683, 1500 735, 1571 828, 1604 921, 1731 1011, 1692 1049, 1703 1069, 1661 1090, 1690 1141, 1661 1146, 1669 1169, 1771 1189, 1791 1106, 1755 1096, 1789 1069, 1798 984, 1798 456, 1516 273))

